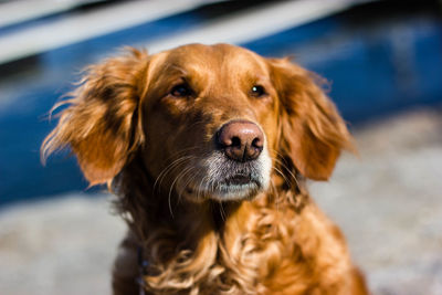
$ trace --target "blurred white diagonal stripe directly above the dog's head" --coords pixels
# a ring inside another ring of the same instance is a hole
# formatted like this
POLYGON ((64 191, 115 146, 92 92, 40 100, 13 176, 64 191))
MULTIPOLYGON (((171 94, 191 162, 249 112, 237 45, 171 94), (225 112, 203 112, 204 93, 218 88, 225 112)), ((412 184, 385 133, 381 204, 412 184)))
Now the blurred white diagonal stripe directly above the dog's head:
POLYGON ((266 4, 143 46, 155 53, 187 43, 245 43, 343 11, 354 3, 351 0, 296 0, 266 4))

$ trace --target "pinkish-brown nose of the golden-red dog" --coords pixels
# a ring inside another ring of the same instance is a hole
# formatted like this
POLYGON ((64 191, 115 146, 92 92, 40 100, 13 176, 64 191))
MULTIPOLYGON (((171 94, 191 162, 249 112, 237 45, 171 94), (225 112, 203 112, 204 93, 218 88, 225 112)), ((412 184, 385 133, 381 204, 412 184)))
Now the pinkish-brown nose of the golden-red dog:
POLYGON ((232 120, 220 128, 217 141, 229 158, 245 162, 260 156, 264 146, 264 135, 253 122, 232 120))

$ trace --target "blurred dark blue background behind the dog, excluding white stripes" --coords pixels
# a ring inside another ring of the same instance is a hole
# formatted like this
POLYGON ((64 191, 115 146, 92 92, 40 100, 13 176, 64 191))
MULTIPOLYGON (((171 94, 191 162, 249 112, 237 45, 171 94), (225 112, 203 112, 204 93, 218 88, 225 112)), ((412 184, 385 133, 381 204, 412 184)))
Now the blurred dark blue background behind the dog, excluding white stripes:
MULTIPOLYGON (((9 2, 3 1, 0 11, 9 2)), ((151 43, 167 44, 169 39, 189 31, 229 22, 231 15, 284 4, 284 1, 189 1, 188 7, 159 13, 145 22, 67 40, 52 48, 33 49, 31 40, 17 41, 17 36, 32 33, 35 28, 55 28, 65 19, 94 15, 129 2, 71 1, 57 11, 1 24, 0 45, 6 42, 12 46, 15 42, 18 49, 13 53, 20 53, 23 46, 30 49, 21 55, 6 53, 0 59, 0 207, 87 187, 73 157, 67 154, 52 157, 43 167, 39 152, 43 138, 56 123, 48 119, 50 108, 72 89, 84 66, 115 54, 124 45, 149 49, 151 43)), ((291 28, 263 32, 252 36, 253 40, 233 41, 265 56, 294 56, 296 62, 326 77, 332 83, 330 97, 351 126, 417 105, 442 102, 439 1, 332 2, 345 6, 291 28)))

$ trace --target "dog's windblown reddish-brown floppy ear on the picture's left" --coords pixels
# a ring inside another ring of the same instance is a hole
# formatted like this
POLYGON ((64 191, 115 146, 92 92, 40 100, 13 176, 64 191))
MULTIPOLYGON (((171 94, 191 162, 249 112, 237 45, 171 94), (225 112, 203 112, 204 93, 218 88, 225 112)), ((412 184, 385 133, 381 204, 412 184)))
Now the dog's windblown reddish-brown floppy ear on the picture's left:
POLYGON ((137 113, 148 55, 130 51, 87 69, 72 98, 55 105, 67 107, 42 145, 43 160, 70 146, 92 186, 112 180, 143 141, 137 113))

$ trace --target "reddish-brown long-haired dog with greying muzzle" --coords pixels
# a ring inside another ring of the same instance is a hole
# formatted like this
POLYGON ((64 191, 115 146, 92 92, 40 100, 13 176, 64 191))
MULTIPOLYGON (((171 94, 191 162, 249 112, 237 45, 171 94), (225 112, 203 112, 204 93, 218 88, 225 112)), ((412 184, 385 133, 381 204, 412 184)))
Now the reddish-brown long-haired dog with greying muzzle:
POLYGON ((119 196, 114 294, 137 294, 137 277, 148 294, 367 294, 306 191, 352 148, 317 82, 227 44, 88 69, 42 150, 70 146, 119 196))

